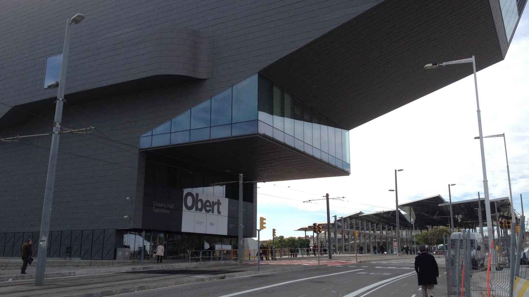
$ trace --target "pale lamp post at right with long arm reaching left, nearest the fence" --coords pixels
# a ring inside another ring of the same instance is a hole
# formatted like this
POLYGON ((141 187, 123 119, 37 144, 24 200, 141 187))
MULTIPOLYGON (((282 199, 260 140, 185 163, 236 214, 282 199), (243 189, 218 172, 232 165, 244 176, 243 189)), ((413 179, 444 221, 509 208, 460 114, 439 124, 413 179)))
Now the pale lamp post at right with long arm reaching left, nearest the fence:
MULTIPOLYGON (((455 60, 450 62, 443 62, 443 63, 430 63, 424 65, 425 69, 432 69, 437 68, 439 65, 446 66, 446 65, 453 65, 453 64, 466 64, 466 63, 472 63, 472 69, 474 71, 474 88, 476 90, 476 105, 477 105, 477 113, 478 113, 478 131, 479 131, 479 146, 481 150, 481 167, 483 171, 483 187, 485 191, 485 213, 487 215, 487 231, 488 231, 488 242, 490 243, 492 239, 492 218, 490 216, 490 199, 489 199, 489 185, 487 180, 487 168, 485 166, 485 149, 483 146, 483 131, 481 129, 481 110, 479 109, 479 97, 478 97, 478 80, 476 78, 476 58, 475 56, 472 56, 472 58, 467 59, 461 59, 461 60, 455 60)), ((490 244, 487 243, 489 246, 489 253, 492 253, 492 247, 490 244)))

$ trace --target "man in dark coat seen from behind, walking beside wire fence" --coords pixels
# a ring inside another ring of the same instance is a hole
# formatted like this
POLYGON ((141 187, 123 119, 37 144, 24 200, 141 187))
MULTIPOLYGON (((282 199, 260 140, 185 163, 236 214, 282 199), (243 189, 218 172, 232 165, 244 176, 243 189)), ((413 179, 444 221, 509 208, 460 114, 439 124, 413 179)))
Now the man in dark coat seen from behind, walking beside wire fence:
POLYGON ((439 277, 439 267, 434 256, 426 252, 425 245, 419 246, 419 252, 421 253, 415 257, 418 284, 422 286, 423 297, 433 297, 434 285, 437 284, 439 277))

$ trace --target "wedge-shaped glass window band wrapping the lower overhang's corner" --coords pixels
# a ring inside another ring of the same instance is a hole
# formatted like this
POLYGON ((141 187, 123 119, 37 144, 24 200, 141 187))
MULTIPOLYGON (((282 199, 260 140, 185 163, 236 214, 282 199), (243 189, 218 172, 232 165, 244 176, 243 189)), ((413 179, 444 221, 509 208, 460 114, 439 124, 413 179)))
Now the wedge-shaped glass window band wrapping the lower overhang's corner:
POLYGON ((260 133, 348 172, 349 131, 256 73, 140 136, 140 148, 260 133))

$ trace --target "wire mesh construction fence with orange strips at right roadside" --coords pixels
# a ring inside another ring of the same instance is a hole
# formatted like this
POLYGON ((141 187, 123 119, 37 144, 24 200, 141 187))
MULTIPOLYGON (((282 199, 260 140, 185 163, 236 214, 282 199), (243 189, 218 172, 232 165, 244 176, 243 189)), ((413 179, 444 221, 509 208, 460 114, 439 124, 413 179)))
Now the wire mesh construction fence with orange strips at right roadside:
POLYGON ((529 248, 524 239, 523 223, 520 230, 518 234, 513 234, 515 242, 511 241, 512 234, 509 229, 497 227, 491 232, 491 236, 484 228, 482 235, 463 231, 453 233, 451 238, 447 238, 447 295, 513 296, 514 276, 525 279, 529 277, 529 248))

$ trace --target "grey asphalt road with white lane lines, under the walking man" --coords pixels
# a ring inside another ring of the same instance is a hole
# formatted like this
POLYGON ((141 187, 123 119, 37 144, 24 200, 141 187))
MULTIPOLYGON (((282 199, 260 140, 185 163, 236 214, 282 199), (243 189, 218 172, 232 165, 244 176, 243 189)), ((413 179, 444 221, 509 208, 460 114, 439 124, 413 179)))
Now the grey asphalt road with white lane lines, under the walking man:
MULTIPOLYGON (((293 270, 171 286, 122 296, 422 296, 413 268, 413 257, 358 264, 344 261, 348 259, 340 260, 322 262, 329 266, 317 266, 314 260, 277 261, 274 265, 291 265, 293 270), (299 265, 306 268, 299 269, 299 265)), ((446 270, 444 259, 436 260, 441 274, 436 295, 442 296, 446 294, 446 270)))

